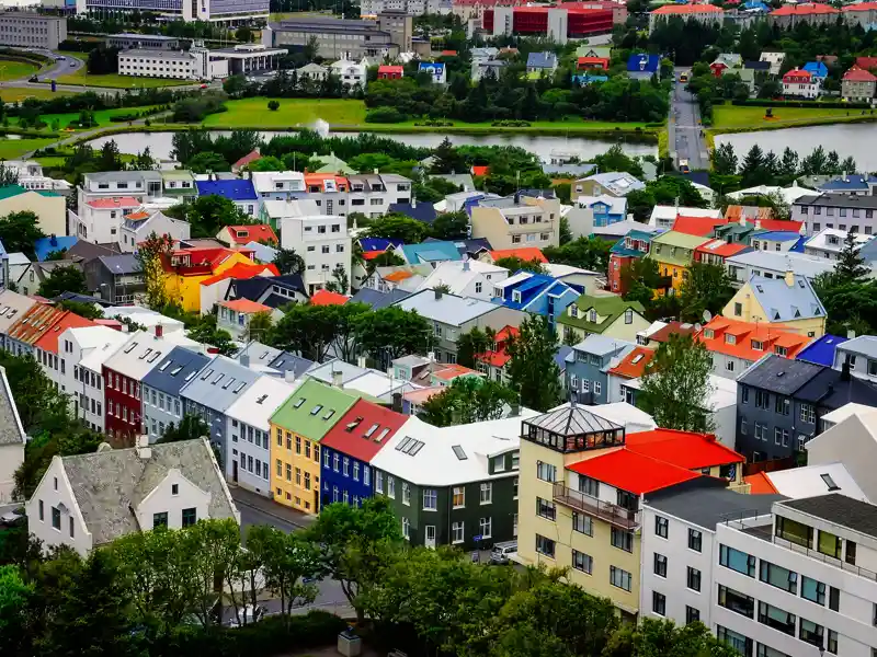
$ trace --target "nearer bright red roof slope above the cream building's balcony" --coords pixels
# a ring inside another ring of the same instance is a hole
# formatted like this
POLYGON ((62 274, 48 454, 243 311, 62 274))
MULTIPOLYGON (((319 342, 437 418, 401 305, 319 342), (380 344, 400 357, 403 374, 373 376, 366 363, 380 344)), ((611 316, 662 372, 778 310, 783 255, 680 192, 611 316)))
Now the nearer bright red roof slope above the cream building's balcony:
POLYGON ((692 472, 627 448, 579 461, 569 469, 634 495, 645 495, 702 476, 699 472, 692 472))

